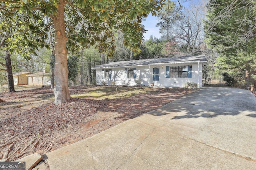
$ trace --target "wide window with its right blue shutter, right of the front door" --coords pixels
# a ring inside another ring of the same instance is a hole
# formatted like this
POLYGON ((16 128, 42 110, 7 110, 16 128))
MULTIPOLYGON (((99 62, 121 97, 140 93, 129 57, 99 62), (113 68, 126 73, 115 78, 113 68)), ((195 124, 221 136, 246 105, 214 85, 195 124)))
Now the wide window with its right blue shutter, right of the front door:
POLYGON ((170 78, 191 78, 191 65, 170 66, 170 78))

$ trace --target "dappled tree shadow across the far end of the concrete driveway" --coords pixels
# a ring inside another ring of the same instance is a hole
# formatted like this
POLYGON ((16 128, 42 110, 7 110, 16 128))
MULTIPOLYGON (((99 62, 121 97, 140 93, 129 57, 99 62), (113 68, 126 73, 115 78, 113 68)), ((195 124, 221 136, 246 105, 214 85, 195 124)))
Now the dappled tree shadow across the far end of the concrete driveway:
POLYGON ((148 114, 170 114, 170 119, 212 118, 219 115, 256 117, 256 98, 238 88, 203 88, 179 100, 175 100, 148 114))

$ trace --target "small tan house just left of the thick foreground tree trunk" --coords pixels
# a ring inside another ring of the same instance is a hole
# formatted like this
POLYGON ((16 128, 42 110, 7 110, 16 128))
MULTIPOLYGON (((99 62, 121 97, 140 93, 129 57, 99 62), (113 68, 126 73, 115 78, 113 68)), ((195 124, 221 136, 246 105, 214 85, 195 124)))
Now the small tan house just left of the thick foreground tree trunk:
POLYGON ((36 72, 27 76, 29 85, 48 85, 48 82, 51 80, 50 72, 36 72))

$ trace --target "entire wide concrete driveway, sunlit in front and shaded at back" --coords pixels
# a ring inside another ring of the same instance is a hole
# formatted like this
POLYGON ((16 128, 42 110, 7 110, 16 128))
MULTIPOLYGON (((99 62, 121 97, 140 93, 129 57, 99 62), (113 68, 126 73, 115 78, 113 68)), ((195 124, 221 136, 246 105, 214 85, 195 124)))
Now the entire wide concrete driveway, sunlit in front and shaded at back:
POLYGON ((46 156, 52 170, 256 169, 256 98, 205 87, 46 156))

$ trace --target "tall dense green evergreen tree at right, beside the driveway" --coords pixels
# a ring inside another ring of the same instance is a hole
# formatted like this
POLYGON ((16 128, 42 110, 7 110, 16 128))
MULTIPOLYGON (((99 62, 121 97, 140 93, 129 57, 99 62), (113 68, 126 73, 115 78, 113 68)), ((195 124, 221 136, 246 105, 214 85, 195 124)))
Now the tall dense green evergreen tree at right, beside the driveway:
POLYGON ((210 0, 205 25, 206 44, 221 55, 225 70, 243 72, 247 87, 254 90, 251 74, 256 67, 256 4, 250 0, 210 0))

